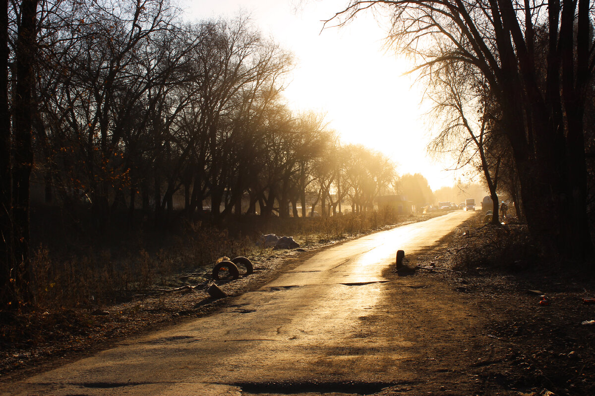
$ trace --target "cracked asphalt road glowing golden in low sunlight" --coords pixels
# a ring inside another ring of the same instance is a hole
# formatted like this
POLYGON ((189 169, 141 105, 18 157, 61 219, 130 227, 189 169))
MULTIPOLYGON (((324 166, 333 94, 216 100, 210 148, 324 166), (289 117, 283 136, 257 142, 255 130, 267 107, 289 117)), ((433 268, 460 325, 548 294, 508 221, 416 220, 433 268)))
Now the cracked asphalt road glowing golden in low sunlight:
POLYGON ((369 394, 374 387, 415 381, 399 363, 418 353, 415 340, 400 331, 409 324, 389 317, 380 302, 388 287, 396 287, 383 271, 394 265, 397 249, 409 255, 434 245, 469 216, 456 211, 325 249, 218 313, 0 390, 57 396, 300 389, 365 394, 358 387, 369 384, 369 394))

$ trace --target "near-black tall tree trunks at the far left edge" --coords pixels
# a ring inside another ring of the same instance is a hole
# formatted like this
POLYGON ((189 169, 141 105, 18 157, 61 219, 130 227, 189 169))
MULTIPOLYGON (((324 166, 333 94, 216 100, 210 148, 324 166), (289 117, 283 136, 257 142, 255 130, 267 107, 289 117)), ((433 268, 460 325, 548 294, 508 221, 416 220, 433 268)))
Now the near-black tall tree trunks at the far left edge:
POLYGON ((29 305, 33 300, 30 287, 29 258, 29 189, 33 168, 33 65, 37 53, 37 0, 13 4, 11 10, 3 5, 0 15, 0 45, 3 69, 0 71, 0 117, 2 120, 2 208, 0 311, 8 312, 29 305), (12 125, 8 105, 8 48, 10 15, 18 15, 12 27, 16 30, 14 45, 14 79, 12 125), (12 127, 12 128, 11 128, 12 127))

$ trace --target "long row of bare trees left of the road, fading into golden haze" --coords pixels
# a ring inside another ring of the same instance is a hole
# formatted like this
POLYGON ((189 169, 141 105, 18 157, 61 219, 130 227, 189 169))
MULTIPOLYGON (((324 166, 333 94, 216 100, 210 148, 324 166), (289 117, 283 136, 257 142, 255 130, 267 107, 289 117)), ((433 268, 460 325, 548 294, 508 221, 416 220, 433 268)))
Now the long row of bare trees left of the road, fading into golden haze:
POLYGON ((289 108, 292 54, 249 18, 184 22, 168 0, 2 4, 3 312, 28 303, 32 178, 100 232, 114 217, 134 227, 137 213, 167 226, 203 205, 213 223, 257 208, 329 216, 346 199, 358 213, 394 185, 386 156, 289 108))

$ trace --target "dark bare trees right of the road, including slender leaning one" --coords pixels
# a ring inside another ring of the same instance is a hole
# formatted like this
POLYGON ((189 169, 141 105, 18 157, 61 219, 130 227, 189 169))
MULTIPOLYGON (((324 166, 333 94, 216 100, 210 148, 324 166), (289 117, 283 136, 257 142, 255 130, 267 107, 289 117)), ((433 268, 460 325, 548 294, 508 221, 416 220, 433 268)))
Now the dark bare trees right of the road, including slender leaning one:
POLYGON ((447 115, 437 147, 477 164, 494 210, 509 190, 544 253, 590 262, 593 2, 352 0, 331 20, 370 9, 447 115))

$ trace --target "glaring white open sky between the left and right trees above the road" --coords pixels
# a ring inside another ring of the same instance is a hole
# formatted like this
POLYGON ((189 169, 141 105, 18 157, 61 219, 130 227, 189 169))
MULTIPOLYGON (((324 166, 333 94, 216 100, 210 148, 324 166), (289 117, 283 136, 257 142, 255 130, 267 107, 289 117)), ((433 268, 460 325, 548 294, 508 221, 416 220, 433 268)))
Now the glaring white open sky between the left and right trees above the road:
POLYGON ((323 19, 347 0, 181 0, 187 18, 233 17, 249 12, 256 26, 296 57, 296 69, 284 95, 295 110, 326 114, 344 143, 382 151, 398 172, 422 173, 432 189, 452 186, 450 165, 426 155, 428 131, 420 106, 422 87, 402 74, 404 59, 382 49, 386 30, 371 14, 342 28, 321 31, 323 19), (297 9, 296 9, 297 8, 297 9))

